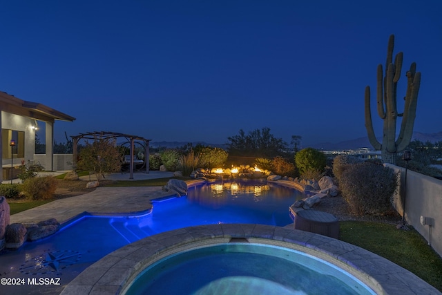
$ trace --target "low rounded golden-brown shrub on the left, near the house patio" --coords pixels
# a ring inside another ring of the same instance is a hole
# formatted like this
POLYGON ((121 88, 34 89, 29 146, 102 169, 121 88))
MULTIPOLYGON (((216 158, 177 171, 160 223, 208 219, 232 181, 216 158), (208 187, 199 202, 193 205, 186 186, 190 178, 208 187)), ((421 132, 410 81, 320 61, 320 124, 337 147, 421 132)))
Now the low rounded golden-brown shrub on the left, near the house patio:
POLYGON ((57 189, 57 180, 52 176, 28 178, 21 184, 22 193, 31 200, 51 199, 57 189))

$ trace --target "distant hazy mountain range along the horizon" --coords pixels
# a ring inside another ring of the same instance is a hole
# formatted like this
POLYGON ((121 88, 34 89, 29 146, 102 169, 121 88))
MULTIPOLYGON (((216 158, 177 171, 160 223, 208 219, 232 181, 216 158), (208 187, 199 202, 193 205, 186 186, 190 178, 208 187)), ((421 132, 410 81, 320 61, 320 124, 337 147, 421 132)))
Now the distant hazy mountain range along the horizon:
MULTIPOLYGON (((379 142, 382 138, 378 138, 379 142)), ((420 140, 421 142, 442 142, 442 131, 438 133, 422 133, 414 132, 412 140, 420 140)), ((153 148, 166 147, 169 149, 176 149, 178 147, 184 146, 188 142, 151 142, 149 145, 153 148)), ((193 146, 197 144, 202 144, 204 146, 219 147, 222 149, 227 149, 227 144, 210 144, 207 142, 192 142, 193 146)), ((301 142, 302 144, 302 142, 301 142)), ((347 149, 361 149, 369 148, 372 149, 372 144, 370 144, 368 137, 359 137, 354 140, 345 140, 343 142, 320 142, 318 144, 307 144, 303 145, 302 148, 312 147, 314 149, 322 149, 325 151, 342 151, 347 149)))

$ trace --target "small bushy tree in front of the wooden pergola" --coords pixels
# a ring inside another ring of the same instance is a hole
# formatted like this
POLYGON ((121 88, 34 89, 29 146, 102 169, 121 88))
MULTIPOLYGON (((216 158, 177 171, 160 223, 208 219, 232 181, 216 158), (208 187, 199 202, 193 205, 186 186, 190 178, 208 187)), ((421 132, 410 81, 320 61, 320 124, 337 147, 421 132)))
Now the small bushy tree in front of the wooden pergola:
POLYGON ((98 181, 104 173, 120 171, 122 166, 122 156, 115 146, 115 139, 96 138, 92 143, 86 142, 79 158, 79 169, 92 171, 98 181))

